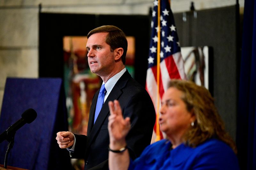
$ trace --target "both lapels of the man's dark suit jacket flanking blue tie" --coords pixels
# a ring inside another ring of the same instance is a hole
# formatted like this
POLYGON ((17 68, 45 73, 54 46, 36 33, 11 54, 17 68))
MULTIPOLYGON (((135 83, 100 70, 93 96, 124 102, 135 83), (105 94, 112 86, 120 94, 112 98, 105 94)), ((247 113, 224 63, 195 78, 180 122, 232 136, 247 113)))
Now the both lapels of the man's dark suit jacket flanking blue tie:
POLYGON ((87 132, 88 141, 87 141, 87 146, 86 146, 87 148, 91 145, 93 139, 98 134, 97 132, 100 130, 104 120, 108 119, 108 114, 109 114, 108 101, 114 101, 116 99, 119 99, 119 97, 123 93, 122 89, 125 87, 128 79, 130 77, 131 77, 131 75, 126 70, 125 73, 121 76, 121 78, 119 78, 119 80, 116 82, 116 85, 113 87, 110 94, 108 95, 107 100, 104 102, 104 104, 100 110, 99 116, 93 125, 94 112, 95 112, 95 107, 96 107, 99 91, 97 91, 95 93, 94 99, 92 101, 91 110, 90 110, 90 119, 88 122, 88 132, 87 132))

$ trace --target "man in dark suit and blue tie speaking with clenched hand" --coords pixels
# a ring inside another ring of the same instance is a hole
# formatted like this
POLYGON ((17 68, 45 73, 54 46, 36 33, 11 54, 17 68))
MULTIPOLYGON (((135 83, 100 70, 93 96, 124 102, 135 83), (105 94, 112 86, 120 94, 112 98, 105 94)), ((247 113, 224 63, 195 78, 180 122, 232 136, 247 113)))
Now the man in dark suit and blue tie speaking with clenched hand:
POLYGON ((124 67, 127 40, 123 31, 116 26, 100 26, 90 31, 87 38, 89 67, 102 78, 103 91, 96 92, 92 99, 87 136, 58 132, 56 140, 60 148, 68 148, 71 158, 84 159, 84 169, 108 169, 108 101, 118 100, 124 118, 130 117, 125 149, 133 159, 150 144, 156 114, 145 88, 124 67), (99 93, 105 96, 98 115, 95 112, 99 93))

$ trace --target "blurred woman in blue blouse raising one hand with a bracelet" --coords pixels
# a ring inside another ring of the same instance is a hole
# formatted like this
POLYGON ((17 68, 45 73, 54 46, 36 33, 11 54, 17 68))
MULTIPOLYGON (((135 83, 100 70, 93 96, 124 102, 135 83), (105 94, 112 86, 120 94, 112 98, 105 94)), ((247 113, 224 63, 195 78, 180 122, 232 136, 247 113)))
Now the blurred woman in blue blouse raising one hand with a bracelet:
MULTIPOLYGON (((125 137, 132 124, 117 100, 108 103, 109 169, 239 169, 236 146, 224 129, 210 92, 184 80, 172 80, 164 93, 159 124, 167 139, 129 158, 125 137)), ((145 121, 147 118, 145 117, 145 121)))

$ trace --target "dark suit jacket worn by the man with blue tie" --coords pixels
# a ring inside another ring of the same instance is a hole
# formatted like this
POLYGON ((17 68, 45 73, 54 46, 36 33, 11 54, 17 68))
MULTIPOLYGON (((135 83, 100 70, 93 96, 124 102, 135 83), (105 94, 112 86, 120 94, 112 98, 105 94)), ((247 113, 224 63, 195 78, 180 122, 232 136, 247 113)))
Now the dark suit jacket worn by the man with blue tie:
POLYGON ((126 72, 116 82, 93 125, 99 91, 92 99, 87 136, 75 135, 75 151, 71 158, 83 158, 84 169, 108 169, 108 101, 118 100, 124 117, 131 118, 126 142, 132 159, 140 156, 150 144, 156 120, 154 105, 148 92, 126 72))

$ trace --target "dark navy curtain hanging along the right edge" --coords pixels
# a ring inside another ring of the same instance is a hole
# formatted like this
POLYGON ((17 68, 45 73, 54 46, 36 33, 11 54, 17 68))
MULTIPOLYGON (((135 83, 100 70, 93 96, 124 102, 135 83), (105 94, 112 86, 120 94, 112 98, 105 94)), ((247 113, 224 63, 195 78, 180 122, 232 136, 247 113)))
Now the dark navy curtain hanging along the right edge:
POLYGON ((256 169, 256 3, 246 0, 239 86, 237 148, 241 169, 256 169))

